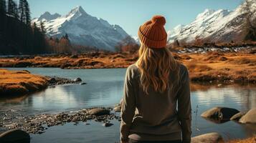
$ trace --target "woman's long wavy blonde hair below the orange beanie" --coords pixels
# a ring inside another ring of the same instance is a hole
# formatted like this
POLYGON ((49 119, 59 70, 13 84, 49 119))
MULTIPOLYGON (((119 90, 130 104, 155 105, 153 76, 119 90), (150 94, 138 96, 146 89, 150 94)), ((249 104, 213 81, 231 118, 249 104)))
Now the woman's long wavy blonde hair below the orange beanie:
MULTIPOLYGON (((170 72, 174 71, 175 73, 179 68, 169 49, 152 49, 141 44, 138 54, 136 66, 141 71, 141 85, 146 94, 150 87, 161 93, 165 92, 167 88, 173 87, 173 84, 169 82, 170 72)), ((177 78, 179 79, 179 77, 177 78)))

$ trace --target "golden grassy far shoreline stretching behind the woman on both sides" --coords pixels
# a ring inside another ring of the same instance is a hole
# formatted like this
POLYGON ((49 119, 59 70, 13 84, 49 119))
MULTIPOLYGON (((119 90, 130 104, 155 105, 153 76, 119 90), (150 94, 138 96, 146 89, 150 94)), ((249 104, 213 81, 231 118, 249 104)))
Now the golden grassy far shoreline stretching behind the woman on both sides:
MULTIPOLYGON (((256 84, 256 56, 246 52, 173 53, 190 72, 191 82, 256 84)), ((77 55, 2 57, 0 67, 57 67, 61 69, 127 68, 138 54, 95 52, 77 55)))

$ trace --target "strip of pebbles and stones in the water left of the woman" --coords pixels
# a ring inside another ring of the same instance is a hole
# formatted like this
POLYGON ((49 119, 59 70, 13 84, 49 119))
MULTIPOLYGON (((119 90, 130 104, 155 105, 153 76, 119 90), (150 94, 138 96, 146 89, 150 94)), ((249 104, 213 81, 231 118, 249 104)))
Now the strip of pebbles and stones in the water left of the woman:
POLYGON ((1 113, 0 117, 2 118, 0 128, 3 127, 6 130, 22 129, 32 134, 42 134, 49 127, 64 125, 68 122, 73 122, 74 125, 77 125, 79 122, 85 122, 87 124, 87 120, 94 120, 95 122, 102 122, 104 127, 110 127, 113 125, 110 123, 110 120, 117 119, 120 121, 120 116, 115 114, 112 107, 97 107, 59 114, 37 114, 31 116, 17 115, 15 111, 9 110, 1 113))

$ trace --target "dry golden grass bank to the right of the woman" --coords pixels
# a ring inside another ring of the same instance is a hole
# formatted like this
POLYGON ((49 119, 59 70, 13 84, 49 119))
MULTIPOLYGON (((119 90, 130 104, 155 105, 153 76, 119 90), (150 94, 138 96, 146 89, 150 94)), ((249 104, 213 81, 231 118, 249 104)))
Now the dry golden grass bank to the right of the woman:
POLYGON ((255 54, 209 53, 189 56, 191 59, 181 62, 188 67, 192 81, 256 83, 255 54))

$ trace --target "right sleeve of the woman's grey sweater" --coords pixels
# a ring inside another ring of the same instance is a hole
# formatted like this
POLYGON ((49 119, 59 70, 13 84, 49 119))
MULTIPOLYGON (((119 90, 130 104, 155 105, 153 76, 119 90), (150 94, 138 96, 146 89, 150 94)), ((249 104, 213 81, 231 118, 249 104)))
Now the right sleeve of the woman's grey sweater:
POLYGON ((191 101, 189 87, 189 72, 184 66, 181 76, 181 87, 178 92, 178 117, 181 124, 182 142, 191 142, 191 101))

